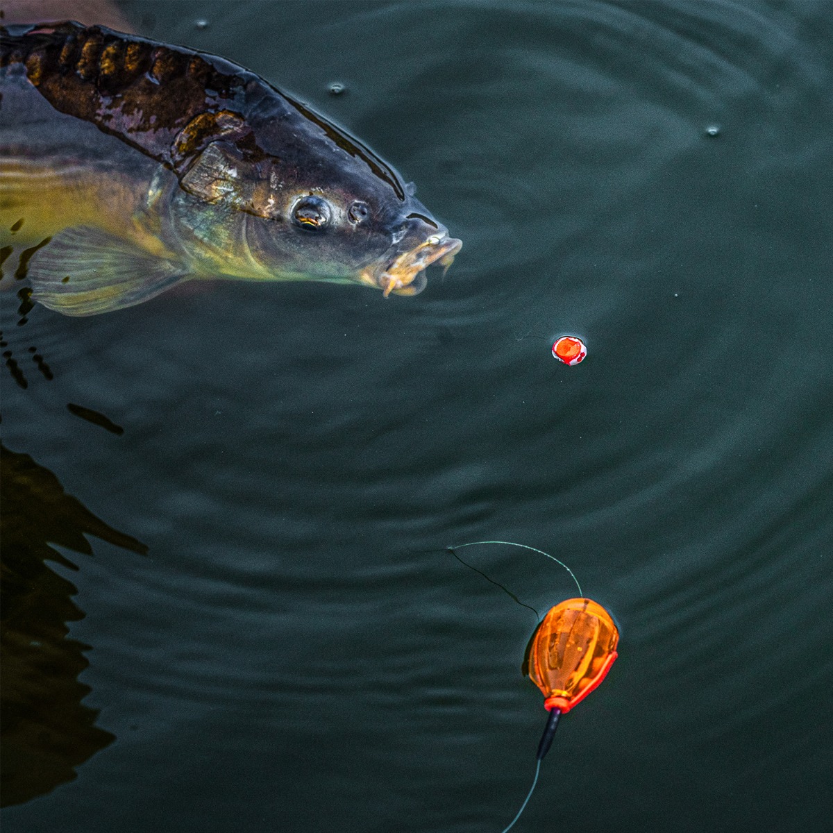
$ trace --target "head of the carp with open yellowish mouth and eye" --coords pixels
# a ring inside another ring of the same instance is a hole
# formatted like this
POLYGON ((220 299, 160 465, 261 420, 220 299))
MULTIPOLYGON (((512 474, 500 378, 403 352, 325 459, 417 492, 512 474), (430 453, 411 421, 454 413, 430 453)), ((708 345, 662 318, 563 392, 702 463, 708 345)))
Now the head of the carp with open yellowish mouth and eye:
POLYGON ((183 131, 177 233, 197 259, 236 277, 357 282, 414 295, 450 237, 392 167, 291 99, 213 114, 183 131), (203 126, 205 127, 205 126, 203 126))

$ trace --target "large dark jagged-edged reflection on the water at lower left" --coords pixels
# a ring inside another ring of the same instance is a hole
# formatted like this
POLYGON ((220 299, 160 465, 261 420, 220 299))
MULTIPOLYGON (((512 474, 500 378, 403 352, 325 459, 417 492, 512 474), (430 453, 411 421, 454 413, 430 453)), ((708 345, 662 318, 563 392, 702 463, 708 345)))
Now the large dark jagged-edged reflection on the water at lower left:
POLYGON ((51 544, 92 554, 92 535, 133 552, 147 547, 107 526, 51 471, 0 446, 2 536, 2 806, 21 804, 72 781, 75 768, 114 736, 96 726, 78 675, 89 646, 67 636, 84 614, 77 588, 46 561, 76 570, 51 544))

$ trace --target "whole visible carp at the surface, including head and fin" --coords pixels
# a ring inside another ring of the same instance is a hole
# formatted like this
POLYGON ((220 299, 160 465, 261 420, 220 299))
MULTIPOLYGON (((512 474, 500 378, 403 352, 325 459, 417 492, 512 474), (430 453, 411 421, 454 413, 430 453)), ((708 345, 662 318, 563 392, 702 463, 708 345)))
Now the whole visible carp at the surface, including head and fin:
POLYGON ((220 57, 76 22, 2 27, 0 92, 3 282, 27 277, 67 315, 193 278, 413 295, 462 245, 369 148, 220 57))

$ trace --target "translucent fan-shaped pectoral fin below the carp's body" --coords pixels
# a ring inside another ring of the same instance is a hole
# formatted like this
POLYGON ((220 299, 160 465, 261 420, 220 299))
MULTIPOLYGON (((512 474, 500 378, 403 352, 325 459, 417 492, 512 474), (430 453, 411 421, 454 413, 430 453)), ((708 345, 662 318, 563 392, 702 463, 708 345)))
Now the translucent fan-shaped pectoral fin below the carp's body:
POLYGON ((52 237, 35 252, 27 277, 32 300, 72 316, 132 307, 188 279, 180 264, 87 226, 52 237))

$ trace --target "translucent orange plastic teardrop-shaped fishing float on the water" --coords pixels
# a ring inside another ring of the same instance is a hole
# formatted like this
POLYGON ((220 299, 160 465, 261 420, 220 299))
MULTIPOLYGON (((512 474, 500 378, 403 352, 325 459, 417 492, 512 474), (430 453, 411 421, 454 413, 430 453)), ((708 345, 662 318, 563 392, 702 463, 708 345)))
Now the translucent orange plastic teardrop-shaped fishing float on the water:
POLYGON ((616 660, 619 631, 591 599, 567 599, 544 616, 532 637, 528 670, 549 711, 570 711, 604 680, 616 660))

